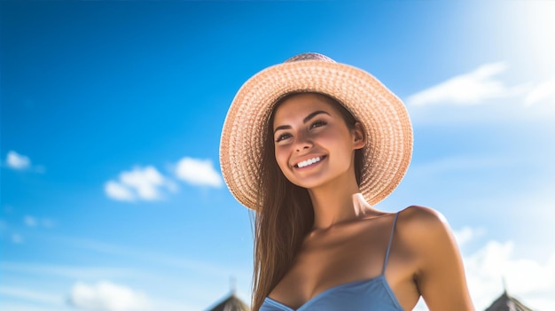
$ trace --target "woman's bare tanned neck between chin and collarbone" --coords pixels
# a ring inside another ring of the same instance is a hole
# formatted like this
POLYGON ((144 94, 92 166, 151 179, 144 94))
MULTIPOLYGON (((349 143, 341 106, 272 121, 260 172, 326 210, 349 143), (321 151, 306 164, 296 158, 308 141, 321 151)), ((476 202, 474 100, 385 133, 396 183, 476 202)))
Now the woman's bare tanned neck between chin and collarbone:
POLYGON ((337 181, 317 189, 309 189, 314 208, 313 229, 329 229, 340 222, 360 219, 371 211, 363 198, 356 179, 352 182, 337 181))

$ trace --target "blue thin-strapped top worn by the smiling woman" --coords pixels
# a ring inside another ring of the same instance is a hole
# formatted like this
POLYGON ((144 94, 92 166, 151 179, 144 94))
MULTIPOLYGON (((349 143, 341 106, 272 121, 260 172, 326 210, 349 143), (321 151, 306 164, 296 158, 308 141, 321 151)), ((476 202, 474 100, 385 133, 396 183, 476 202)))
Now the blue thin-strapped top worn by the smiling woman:
MULTIPOLYGON (((391 248, 391 241, 393 241, 393 233, 398 215, 399 213, 395 214, 389 244, 387 245, 384 267, 379 276, 334 286, 309 299, 296 311, 403 311, 403 307, 401 307, 391 287, 387 284, 385 276, 387 259, 389 258, 389 250, 391 248)), ((260 307, 260 311, 295 311, 295 309, 287 307, 270 297, 266 297, 262 307, 260 307)))

